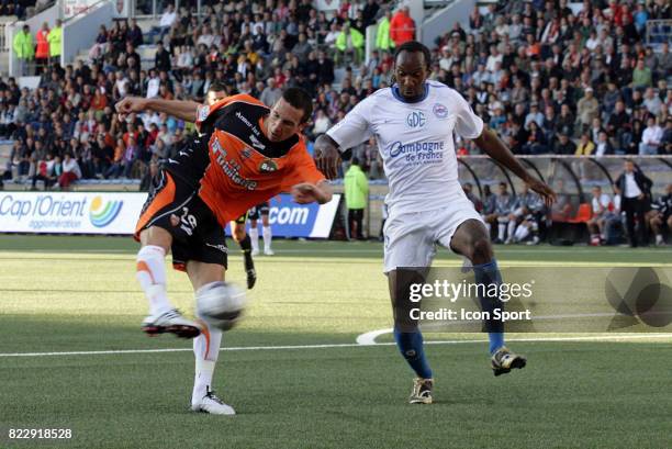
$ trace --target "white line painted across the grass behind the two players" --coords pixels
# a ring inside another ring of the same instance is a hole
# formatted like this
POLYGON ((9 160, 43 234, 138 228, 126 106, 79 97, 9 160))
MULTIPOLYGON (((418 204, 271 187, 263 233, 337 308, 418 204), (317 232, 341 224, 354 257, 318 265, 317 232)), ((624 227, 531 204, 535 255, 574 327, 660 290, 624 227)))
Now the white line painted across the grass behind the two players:
MULTIPOLYGON (((388 330, 388 329, 384 329, 388 330)), ((392 329, 389 329, 392 332, 392 329)), ((380 332, 380 330, 376 330, 380 332)), ((371 333, 367 333, 371 334, 371 333)), ((367 335, 362 334, 362 335, 367 335)), ((380 335, 385 334, 383 332, 380 335)), ((360 336, 361 337, 361 336, 360 336)), ((357 337, 358 340, 360 337, 357 337)), ((634 334, 634 335, 602 335, 590 337, 529 337, 529 338, 512 338, 509 341, 602 341, 602 340, 630 340, 645 338, 672 338, 672 334, 634 334)), ((459 345, 468 343, 485 343, 485 339, 472 340, 434 340, 425 341, 426 345, 459 345)), ((359 344, 326 344, 326 345, 287 345, 287 346, 240 346, 232 348, 222 348, 220 351, 258 351, 258 350, 283 350, 283 349, 327 349, 327 348, 356 348, 361 346, 393 346, 394 343, 376 343, 359 344)), ((105 356, 105 355, 125 355, 125 353, 152 353, 152 352, 191 352, 191 348, 168 348, 168 349, 121 349, 107 351, 64 351, 64 352, 5 352, 0 353, 0 357, 53 357, 53 356, 105 356)))

